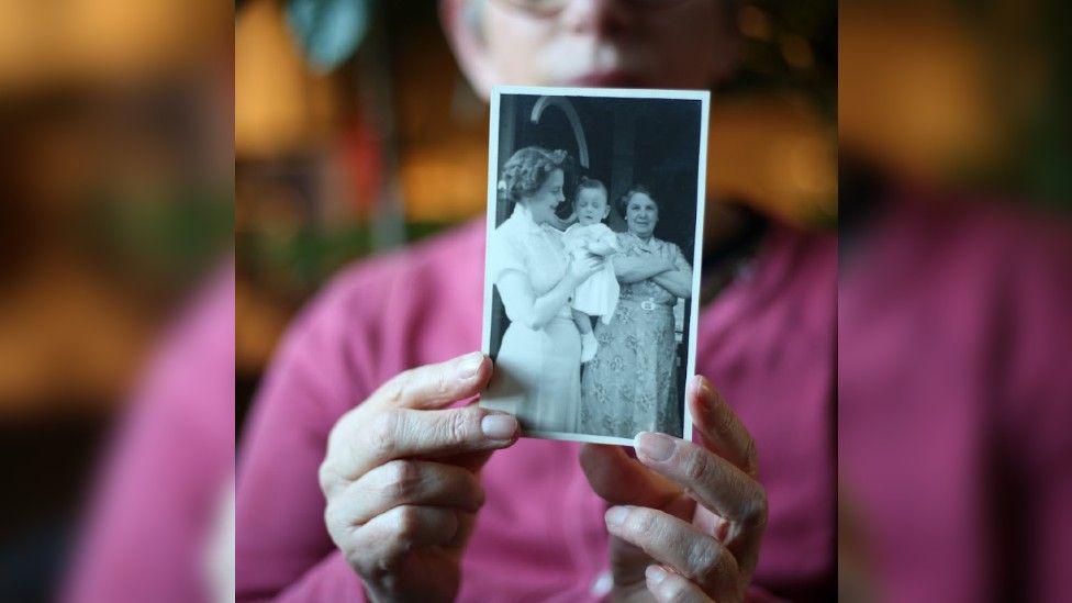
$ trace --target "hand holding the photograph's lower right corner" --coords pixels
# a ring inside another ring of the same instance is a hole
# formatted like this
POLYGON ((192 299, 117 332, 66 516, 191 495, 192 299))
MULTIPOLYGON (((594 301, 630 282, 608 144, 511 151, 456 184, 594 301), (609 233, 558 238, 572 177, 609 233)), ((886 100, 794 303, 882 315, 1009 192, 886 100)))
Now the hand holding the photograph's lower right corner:
POLYGON ((613 601, 744 601, 767 525, 756 447, 702 377, 689 404, 703 446, 663 434, 637 436, 637 460, 587 444, 581 466, 610 502, 613 601))

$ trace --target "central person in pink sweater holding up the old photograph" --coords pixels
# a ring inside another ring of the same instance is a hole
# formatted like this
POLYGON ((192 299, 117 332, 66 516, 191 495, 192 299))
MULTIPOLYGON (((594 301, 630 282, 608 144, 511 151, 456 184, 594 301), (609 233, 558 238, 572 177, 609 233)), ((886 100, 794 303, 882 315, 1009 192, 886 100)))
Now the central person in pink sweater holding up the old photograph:
MULTIPOLYGON (((494 83, 711 88, 736 62, 735 9, 440 4, 484 98, 494 83)), ((708 215, 711 380, 689 391, 702 437, 644 435, 637 459, 448 407, 493 370, 465 354, 480 343, 482 220, 346 268, 291 325, 246 427, 238 600, 830 599, 836 241, 729 205, 708 215)))

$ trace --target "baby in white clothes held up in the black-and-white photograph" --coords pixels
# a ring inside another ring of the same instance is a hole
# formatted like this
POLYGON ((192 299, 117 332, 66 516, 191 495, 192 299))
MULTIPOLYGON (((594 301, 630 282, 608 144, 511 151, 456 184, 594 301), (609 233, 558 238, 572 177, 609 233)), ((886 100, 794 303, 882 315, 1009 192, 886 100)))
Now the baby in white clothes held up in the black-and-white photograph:
MULTIPOLYGON (((592 178, 581 178, 573 194, 577 223, 562 234, 562 243, 568 254, 577 256, 587 252, 608 257, 621 252, 617 235, 603 223, 611 212, 606 198, 606 187, 603 182, 592 178)), ((600 316, 604 323, 610 323, 614 309, 618 304, 618 279, 614 276, 614 267, 610 261, 602 270, 579 284, 573 292, 571 306, 573 322, 581 332, 581 362, 594 358, 599 348, 589 316, 600 316)))

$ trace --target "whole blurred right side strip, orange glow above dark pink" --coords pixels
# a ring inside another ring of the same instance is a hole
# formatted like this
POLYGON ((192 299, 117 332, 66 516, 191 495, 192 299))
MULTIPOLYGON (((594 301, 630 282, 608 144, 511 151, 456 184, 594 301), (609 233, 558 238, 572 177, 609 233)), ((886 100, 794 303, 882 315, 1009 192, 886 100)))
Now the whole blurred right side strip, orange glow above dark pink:
POLYGON ((847 601, 1072 599, 1059 22, 1063 2, 842 3, 847 601))

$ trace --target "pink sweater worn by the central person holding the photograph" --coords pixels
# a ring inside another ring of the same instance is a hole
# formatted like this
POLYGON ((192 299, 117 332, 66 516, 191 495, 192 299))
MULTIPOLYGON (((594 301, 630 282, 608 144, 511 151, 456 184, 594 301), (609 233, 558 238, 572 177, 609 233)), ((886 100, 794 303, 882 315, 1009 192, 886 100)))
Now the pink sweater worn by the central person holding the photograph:
MULTIPOLYGON (((324 528, 316 468, 328 431, 397 372, 479 349, 483 253, 481 222, 373 259, 339 276, 293 325, 239 459, 239 601, 362 599, 324 528)), ((697 371, 761 450, 770 524, 756 583, 805 592, 834 574, 836 242, 781 231, 759 261, 755 278, 702 311, 697 371)), ((525 438, 492 456, 460 600, 603 594, 605 505, 577 453, 576 444, 525 438)))

